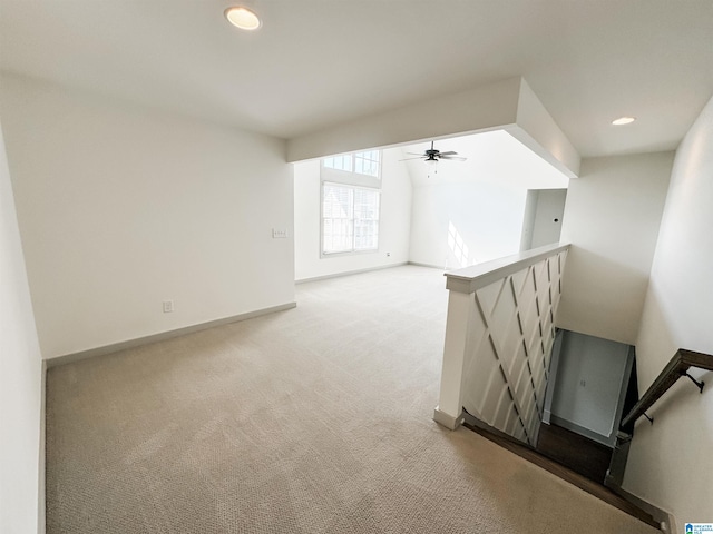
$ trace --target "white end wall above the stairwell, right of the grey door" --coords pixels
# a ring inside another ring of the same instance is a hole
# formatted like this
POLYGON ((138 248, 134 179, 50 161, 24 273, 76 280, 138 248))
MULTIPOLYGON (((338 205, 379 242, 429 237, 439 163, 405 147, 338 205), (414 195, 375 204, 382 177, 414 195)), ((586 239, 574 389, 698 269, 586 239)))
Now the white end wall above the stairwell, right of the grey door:
POLYGON ((634 345, 673 152, 590 158, 570 180, 557 326, 634 345))

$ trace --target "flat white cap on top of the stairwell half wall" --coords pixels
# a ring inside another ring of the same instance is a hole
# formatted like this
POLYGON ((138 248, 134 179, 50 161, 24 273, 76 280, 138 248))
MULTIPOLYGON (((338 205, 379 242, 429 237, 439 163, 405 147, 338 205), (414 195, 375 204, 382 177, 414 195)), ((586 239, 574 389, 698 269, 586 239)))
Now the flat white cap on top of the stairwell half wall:
POLYGON ((476 293, 481 287, 489 286, 494 281, 514 275, 529 265, 568 249, 569 245, 545 245, 544 247, 514 254, 505 258, 451 270, 446 273, 446 288, 458 293, 476 293))

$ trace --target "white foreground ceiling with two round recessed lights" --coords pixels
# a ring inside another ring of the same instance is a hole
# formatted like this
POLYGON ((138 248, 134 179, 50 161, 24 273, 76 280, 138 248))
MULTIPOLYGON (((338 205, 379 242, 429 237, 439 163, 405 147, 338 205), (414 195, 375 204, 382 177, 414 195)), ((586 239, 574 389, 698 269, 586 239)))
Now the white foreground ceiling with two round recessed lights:
POLYGON ((263 28, 217 0, 0 0, 0 68, 282 138, 524 76, 583 156, 674 149, 713 95, 710 0, 237 3, 263 28))

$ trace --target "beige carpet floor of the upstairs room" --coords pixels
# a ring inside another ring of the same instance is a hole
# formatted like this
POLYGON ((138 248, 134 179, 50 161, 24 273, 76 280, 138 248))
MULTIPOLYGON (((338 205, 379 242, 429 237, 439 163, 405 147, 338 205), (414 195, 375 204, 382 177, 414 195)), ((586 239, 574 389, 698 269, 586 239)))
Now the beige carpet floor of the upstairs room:
POLYGON ((447 291, 414 266, 297 308, 51 368, 47 531, 657 531, 431 419, 447 291))

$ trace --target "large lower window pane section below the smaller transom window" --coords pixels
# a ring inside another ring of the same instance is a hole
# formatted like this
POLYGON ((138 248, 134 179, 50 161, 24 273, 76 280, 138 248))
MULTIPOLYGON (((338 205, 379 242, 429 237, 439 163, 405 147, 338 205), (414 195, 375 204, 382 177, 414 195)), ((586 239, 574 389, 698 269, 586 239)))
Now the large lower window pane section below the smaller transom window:
POLYGON ((322 253, 356 253, 379 248, 381 192, 343 184, 323 184, 322 253))

